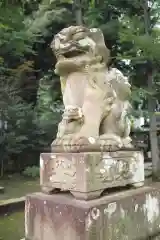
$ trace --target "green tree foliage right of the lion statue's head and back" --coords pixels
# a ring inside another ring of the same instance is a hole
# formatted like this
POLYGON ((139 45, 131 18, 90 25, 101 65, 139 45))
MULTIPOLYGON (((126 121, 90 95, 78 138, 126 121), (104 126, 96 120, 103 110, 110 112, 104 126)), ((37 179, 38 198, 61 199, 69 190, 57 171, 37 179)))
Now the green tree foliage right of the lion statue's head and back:
MULTIPOLYGON (((148 2, 148 1, 147 1, 148 2)), ((111 65, 129 76, 133 86, 132 102, 137 108, 143 100, 147 110, 147 99, 158 97, 157 87, 160 41, 159 41, 159 1, 149 1, 149 34, 146 34, 145 0, 105 0, 89 1, 85 11, 85 22, 89 26, 100 27, 105 35, 106 45, 111 50, 111 65), (154 68, 152 92, 148 91, 147 74, 154 68), (154 94, 153 94, 154 92, 154 94)))

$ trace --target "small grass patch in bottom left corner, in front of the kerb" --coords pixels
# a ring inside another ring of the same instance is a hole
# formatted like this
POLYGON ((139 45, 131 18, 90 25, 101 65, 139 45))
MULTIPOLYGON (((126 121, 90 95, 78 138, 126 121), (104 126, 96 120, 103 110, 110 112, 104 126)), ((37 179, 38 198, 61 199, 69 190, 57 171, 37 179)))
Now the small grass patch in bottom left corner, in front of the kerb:
POLYGON ((0 217, 0 240, 20 240, 24 237, 24 212, 0 217))

